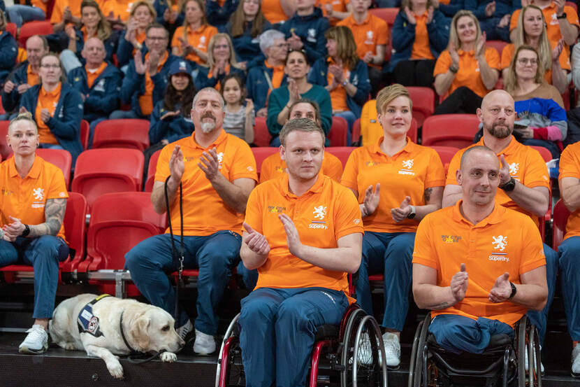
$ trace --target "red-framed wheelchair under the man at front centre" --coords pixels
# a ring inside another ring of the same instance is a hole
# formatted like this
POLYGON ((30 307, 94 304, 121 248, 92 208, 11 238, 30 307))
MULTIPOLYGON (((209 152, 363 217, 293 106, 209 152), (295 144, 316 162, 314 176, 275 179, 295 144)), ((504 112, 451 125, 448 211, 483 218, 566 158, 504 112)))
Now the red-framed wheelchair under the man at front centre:
MULTIPOLYGON (((231 321, 219 351, 216 387, 245 386, 238 317, 231 321)), ((381 330, 375 318, 357 304, 348 307, 340 326, 317 328, 307 385, 340 387, 386 387, 386 363, 381 330), (367 356, 361 346, 370 346, 367 356), (353 359, 358 359, 353 361, 353 359)))

